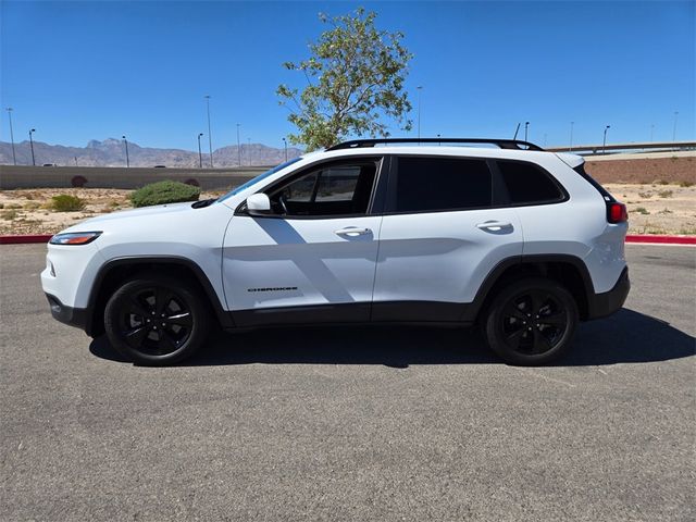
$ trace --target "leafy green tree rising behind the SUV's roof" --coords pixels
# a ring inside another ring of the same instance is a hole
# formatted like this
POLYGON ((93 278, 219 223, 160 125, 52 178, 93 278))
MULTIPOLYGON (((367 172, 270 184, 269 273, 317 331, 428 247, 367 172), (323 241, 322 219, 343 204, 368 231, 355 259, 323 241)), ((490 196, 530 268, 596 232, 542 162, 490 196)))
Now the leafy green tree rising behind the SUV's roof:
POLYGON ((314 150, 350 134, 386 137, 385 116, 409 130, 411 103, 403 82, 412 54, 401 45, 403 35, 377 29, 376 13, 362 8, 319 17, 331 28, 309 45, 311 57, 283 64, 301 71, 308 84, 301 94, 287 85, 277 88, 281 104, 290 110, 288 120, 298 128, 289 140, 314 150))

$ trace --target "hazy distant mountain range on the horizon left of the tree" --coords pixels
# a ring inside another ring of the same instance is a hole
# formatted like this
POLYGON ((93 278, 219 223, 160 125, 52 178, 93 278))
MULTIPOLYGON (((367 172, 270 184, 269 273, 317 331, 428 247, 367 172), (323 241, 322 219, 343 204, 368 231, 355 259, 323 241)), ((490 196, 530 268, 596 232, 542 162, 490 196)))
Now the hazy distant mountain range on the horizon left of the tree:
MULTIPOLYGON (((32 164, 32 150, 28 141, 14 144, 17 165, 32 164)), ((296 148, 287 149, 288 159, 297 158, 302 151, 296 148)), ((37 165, 53 163, 59 166, 73 166, 75 161, 79 166, 125 166, 126 150, 122 139, 108 138, 103 141, 92 139, 87 147, 63 147, 34 141, 34 156, 37 165)), ((203 166, 210 166, 210 154, 203 153, 203 166)), ((128 159, 130 166, 165 165, 170 167, 198 166, 198 151, 181 149, 153 149, 140 147, 128 141, 128 159)), ((213 150, 213 166, 241 165, 277 165, 285 161, 285 150, 266 147, 261 144, 245 144, 239 150, 236 145, 229 145, 213 150)), ((0 164, 11 165, 12 145, 0 141, 0 164)))

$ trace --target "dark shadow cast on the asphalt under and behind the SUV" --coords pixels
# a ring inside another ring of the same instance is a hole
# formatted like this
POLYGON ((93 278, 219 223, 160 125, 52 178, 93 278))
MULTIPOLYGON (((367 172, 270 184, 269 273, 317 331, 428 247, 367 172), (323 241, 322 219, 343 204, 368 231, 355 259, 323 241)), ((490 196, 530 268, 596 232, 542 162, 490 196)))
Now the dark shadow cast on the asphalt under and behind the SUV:
MULTIPOLYGON (((90 351, 127 362, 105 336, 90 351)), ((693 356, 694 337, 669 323, 622 309, 611 318, 583 323, 558 366, 656 362, 693 356)), ((314 326, 219 333, 181 365, 225 364, 501 364, 477 328, 428 326, 314 326)))

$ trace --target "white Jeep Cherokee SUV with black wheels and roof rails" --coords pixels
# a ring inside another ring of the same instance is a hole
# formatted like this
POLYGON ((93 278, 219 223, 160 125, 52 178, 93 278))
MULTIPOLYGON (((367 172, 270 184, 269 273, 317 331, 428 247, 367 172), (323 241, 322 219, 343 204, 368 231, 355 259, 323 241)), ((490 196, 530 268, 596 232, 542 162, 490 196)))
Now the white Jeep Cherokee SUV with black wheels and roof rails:
POLYGON ((55 319, 140 364, 189 357, 215 323, 403 322, 478 323, 505 361, 540 364, 629 293, 625 207, 583 163, 514 140, 348 141, 217 200, 72 226, 41 283, 55 319))

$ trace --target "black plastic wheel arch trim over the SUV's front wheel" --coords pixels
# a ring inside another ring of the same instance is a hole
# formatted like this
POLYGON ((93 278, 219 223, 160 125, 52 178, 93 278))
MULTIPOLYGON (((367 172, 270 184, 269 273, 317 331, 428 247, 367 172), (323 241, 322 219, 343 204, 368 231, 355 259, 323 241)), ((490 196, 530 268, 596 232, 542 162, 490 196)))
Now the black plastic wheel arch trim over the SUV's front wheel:
POLYGON ((186 277, 194 282, 208 298, 208 304, 217 319, 220 326, 223 328, 234 327, 232 318, 223 309, 213 285, 196 262, 175 256, 138 256, 111 259, 97 273, 86 310, 85 332, 87 335, 96 337, 104 333, 103 314, 107 301, 125 281, 142 272, 165 273, 177 277, 186 277))

